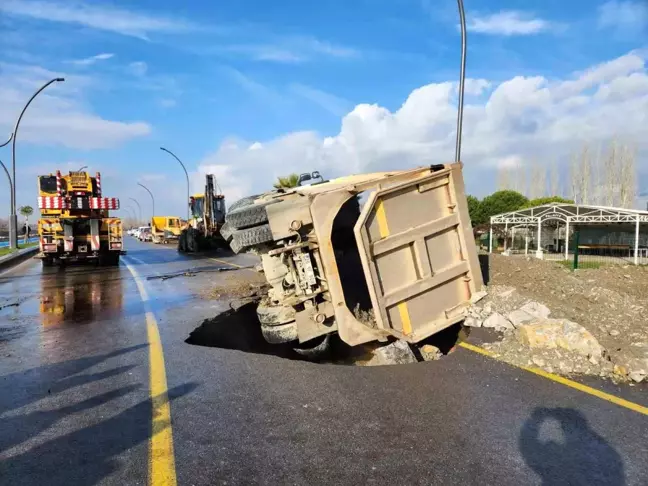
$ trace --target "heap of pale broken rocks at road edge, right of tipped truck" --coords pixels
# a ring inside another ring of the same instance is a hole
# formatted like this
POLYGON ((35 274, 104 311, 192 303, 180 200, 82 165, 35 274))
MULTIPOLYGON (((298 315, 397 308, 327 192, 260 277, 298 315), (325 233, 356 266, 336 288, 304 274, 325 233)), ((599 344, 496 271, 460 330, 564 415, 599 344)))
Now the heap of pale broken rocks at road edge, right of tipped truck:
POLYGON ((610 353, 585 327, 550 316, 546 305, 525 298, 515 288, 493 285, 488 297, 471 307, 464 325, 503 333, 501 341, 484 347, 518 366, 648 381, 648 342, 631 346, 634 353, 610 353))

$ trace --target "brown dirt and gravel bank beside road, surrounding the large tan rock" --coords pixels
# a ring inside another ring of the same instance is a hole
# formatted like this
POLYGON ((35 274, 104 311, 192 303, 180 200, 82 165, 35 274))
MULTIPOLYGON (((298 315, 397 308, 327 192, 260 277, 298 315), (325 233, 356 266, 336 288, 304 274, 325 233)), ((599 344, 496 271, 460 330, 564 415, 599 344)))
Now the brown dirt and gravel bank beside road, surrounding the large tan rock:
POLYGON ((572 271, 535 258, 491 255, 490 278, 488 296, 475 306, 476 319, 494 312, 510 317, 525 304, 537 302, 550 309, 551 318, 582 326, 604 348, 603 359, 579 356, 569 349, 531 349, 519 339, 519 330, 511 332, 511 327, 503 332, 501 342, 488 346, 503 359, 563 374, 646 379, 648 268, 572 271))

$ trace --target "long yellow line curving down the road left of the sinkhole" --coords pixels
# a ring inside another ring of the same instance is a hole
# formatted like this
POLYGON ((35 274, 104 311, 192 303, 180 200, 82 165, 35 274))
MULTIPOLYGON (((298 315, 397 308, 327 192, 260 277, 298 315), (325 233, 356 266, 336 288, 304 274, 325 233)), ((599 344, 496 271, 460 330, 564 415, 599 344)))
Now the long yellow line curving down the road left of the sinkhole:
POLYGON ((173 430, 171 406, 164 366, 164 352, 160 331, 153 312, 148 307, 148 293, 137 270, 126 267, 135 278, 137 290, 146 308, 146 337, 149 343, 149 394, 152 405, 152 431, 149 438, 149 485, 176 486, 175 455, 173 453, 173 430))

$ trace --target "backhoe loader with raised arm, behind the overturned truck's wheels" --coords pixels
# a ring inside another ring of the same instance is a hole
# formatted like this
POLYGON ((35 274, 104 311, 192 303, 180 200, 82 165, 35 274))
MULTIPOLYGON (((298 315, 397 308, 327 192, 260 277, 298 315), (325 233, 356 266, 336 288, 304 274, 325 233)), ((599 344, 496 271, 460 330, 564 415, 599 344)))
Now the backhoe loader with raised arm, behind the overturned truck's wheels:
POLYGON ((178 251, 196 252, 228 248, 221 235, 225 223, 225 196, 214 188, 214 176, 205 177, 205 192, 189 198, 191 218, 178 239, 178 251))

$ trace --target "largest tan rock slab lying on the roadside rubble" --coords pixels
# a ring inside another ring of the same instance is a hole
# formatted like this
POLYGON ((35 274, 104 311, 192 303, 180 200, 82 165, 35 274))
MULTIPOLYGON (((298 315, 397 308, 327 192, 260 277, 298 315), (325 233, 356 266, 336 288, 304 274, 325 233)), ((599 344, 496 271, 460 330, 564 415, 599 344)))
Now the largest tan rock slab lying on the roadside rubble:
POLYGON ((604 355, 603 346, 587 329, 567 319, 544 319, 523 324, 517 329, 516 336, 530 348, 560 348, 597 360, 604 355))

